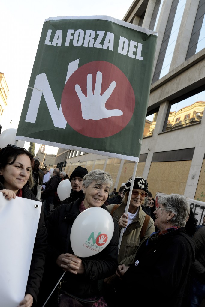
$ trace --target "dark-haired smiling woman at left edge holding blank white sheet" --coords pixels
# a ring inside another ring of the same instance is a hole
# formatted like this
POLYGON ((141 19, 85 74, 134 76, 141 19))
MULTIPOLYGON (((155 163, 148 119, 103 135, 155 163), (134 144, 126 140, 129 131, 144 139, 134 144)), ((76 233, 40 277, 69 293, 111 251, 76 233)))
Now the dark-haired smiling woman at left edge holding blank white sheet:
MULTIPOLYGON (((39 201, 30 191, 34 185, 32 177, 33 164, 34 159, 32 154, 24 148, 8 144, 0 150, 0 192, 3 193, 5 199, 11 200, 18 196, 39 201)), ((43 207, 41 207, 26 294, 24 299, 19 303, 21 307, 30 307, 33 302, 37 301, 45 264, 46 238, 47 231, 45 228, 43 207)), ((19 282, 21 281, 19 280, 19 282)))

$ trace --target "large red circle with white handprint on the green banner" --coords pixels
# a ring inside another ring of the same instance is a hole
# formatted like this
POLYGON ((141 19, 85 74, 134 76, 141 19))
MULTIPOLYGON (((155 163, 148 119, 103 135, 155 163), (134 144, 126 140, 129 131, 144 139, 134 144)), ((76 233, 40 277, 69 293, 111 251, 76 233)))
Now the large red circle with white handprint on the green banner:
POLYGON ((66 121, 74 130, 91 138, 105 138, 127 126, 134 112, 135 94, 129 80, 119 68, 105 61, 93 61, 81 66, 69 77, 62 93, 61 107, 66 121), (101 72, 102 82, 99 81, 100 74, 97 75, 97 72, 101 72), (87 85, 88 74, 92 78, 87 85), (109 98, 107 96, 103 101, 102 95, 112 81, 116 82, 116 86, 110 91, 109 98), (75 90, 76 84, 80 86, 80 98, 75 90), (95 87, 98 88, 98 95, 93 97, 95 87), (82 97, 85 102, 81 109, 82 97), (116 116, 116 113, 122 115, 116 116), (111 114, 114 116, 105 118, 111 114), (86 117, 89 119, 85 119, 86 117))

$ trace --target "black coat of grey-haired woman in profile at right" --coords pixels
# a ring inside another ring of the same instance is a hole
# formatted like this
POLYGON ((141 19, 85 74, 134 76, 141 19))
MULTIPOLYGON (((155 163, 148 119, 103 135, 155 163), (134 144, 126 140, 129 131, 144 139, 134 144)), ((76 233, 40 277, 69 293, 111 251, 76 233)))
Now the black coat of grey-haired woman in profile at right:
MULTIPOLYGON (((194 242, 180 227, 154 239, 150 236, 138 249, 135 263, 123 276, 124 293, 140 293, 146 306, 179 307, 191 261, 195 259, 194 242), (147 291, 148 282, 154 286, 147 291)), ((132 295, 125 296, 127 306, 132 305, 132 295)), ((124 301, 124 302, 125 302, 124 301)), ((120 306, 123 305, 121 300, 120 306)))

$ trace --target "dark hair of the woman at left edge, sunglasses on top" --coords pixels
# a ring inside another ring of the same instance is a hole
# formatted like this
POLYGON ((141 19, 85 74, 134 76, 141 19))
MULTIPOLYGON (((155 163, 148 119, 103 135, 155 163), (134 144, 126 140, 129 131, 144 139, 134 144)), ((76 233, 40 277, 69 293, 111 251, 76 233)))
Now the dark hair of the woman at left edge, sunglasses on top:
MULTIPOLYGON (((26 154, 31 161, 30 177, 27 181, 27 184, 31 189, 34 186, 34 178, 32 175, 32 169, 34 168, 34 157, 25 148, 20 148, 9 144, 6 147, 2 148, 0 150, 0 170, 2 170, 7 164, 8 165, 13 164, 16 161, 16 158, 22 154, 26 154)), ((0 181, 4 183, 4 177, 2 175, 0 175, 0 181)))

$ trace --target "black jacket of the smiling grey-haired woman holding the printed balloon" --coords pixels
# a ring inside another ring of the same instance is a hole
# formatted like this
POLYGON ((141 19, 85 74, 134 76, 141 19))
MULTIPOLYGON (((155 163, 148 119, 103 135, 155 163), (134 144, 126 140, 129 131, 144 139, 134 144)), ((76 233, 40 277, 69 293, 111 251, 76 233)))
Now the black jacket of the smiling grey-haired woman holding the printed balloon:
MULTIPOLYGON (((80 214, 79 206, 82 200, 83 198, 80 198, 73 203, 60 205, 46 217, 49 243, 47 264, 49 262, 49 267, 52 268, 52 275, 55 275, 53 285, 57 283, 58 278, 64 273, 56 264, 57 257, 64 253, 74 255, 70 244, 70 231, 74 220, 80 214)), ((101 208, 108 211, 104 204, 101 208)), ((108 246, 96 255, 87 258, 79 257, 85 266, 85 273, 75 275, 66 272, 61 287, 77 297, 93 297, 97 295, 98 281, 114 274, 117 269, 118 233, 118 224, 114 221, 114 233, 108 246)), ((47 280, 45 285, 48 286, 48 282, 47 280)), ((49 293, 52 290, 52 288, 49 289, 49 293)))

